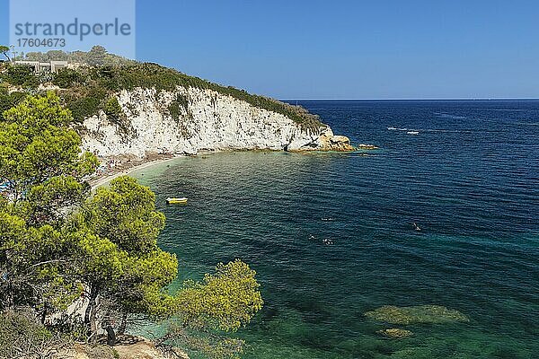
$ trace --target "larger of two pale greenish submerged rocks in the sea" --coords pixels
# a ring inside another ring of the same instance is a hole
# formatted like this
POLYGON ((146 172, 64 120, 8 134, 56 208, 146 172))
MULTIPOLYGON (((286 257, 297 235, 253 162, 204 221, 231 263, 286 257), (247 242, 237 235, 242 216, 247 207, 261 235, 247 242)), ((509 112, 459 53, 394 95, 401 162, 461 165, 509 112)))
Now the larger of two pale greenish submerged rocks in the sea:
POLYGON ((460 311, 450 310, 440 305, 418 305, 413 307, 384 305, 375 311, 367 311, 365 316, 371 320, 384 321, 392 324, 470 321, 460 311))

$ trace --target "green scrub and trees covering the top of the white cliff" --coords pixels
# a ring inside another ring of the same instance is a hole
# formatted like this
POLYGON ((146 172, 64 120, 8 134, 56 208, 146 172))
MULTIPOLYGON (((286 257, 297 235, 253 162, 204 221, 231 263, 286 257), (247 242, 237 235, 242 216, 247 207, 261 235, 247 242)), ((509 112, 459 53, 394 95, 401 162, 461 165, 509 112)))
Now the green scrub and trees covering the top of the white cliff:
MULTIPOLYGON (((50 76, 31 74, 28 66, 7 66, 0 76, 3 83, 8 83, 28 91, 35 91, 40 84, 51 83, 60 90, 58 95, 68 109, 71 109, 75 121, 97 115, 105 110, 110 98, 122 90, 135 88, 155 89, 160 92, 175 92, 178 87, 211 90, 234 99, 246 101, 254 107, 268 109, 292 119, 301 127, 317 131, 323 127, 318 116, 306 109, 277 101, 269 97, 250 94, 232 86, 211 83, 199 77, 183 74, 172 68, 152 63, 137 63, 107 53, 102 47, 94 47, 89 52, 49 51, 48 53, 29 53, 24 58, 33 61, 68 60, 77 63, 76 68, 65 68, 50 76)), ((179 109, 187 109, 189 101, 180 99, 172 104, 172 117, 179 116, 179 109)))

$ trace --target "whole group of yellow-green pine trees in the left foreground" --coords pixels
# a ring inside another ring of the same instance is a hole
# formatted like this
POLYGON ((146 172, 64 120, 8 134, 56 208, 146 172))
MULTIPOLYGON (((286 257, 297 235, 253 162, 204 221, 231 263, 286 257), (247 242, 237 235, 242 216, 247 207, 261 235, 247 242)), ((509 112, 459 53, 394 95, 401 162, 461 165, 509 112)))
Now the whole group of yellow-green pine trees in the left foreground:
POLYGON ((92 194, 86 179, 98 161, 81 153, 73 122, 54 92, 0 120, 0 326, 15 337, 2 339, 0 357, 51 357, 75 341, 113 346, 140 320, 163 325, 158 346, 241 353, 243 341, 226 333, 261 310, 255 272, 236 259, 172 290, 178 259, 157 245, 165 218, 155 194, 128 177, 92 194))

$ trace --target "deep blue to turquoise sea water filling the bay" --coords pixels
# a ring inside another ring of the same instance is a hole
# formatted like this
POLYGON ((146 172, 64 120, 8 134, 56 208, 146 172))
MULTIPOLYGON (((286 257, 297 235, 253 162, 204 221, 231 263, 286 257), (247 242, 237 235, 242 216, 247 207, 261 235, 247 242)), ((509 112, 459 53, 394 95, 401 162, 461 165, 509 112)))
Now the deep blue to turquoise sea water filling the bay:
POLYGON ((265 307, 239 333, 244 357, 539 357, 539 101, 302 104, 380 150, 216 153, 138 173, 181 279, 234 258, 257 271, 265 307), (164 205, 180 195, 189 206, 164 205), (470 322, 364 316, 386 304, 470 322))

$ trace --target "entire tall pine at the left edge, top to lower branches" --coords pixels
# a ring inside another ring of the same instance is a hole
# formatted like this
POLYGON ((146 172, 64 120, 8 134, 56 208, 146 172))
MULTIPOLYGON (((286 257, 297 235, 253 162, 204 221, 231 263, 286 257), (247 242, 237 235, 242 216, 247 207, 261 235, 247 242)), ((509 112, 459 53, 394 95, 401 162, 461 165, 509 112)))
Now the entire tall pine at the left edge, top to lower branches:
POLYGON ((66 280, 73 243, 61 233, 66 208, 80 205, 84 176, 97 159, 80 155, 72 118, 53 93, 28 97, 0 121, 0 182, 9 201, 0 207, 0 310, 30 305, 47 312, 73 301, 66 280))

